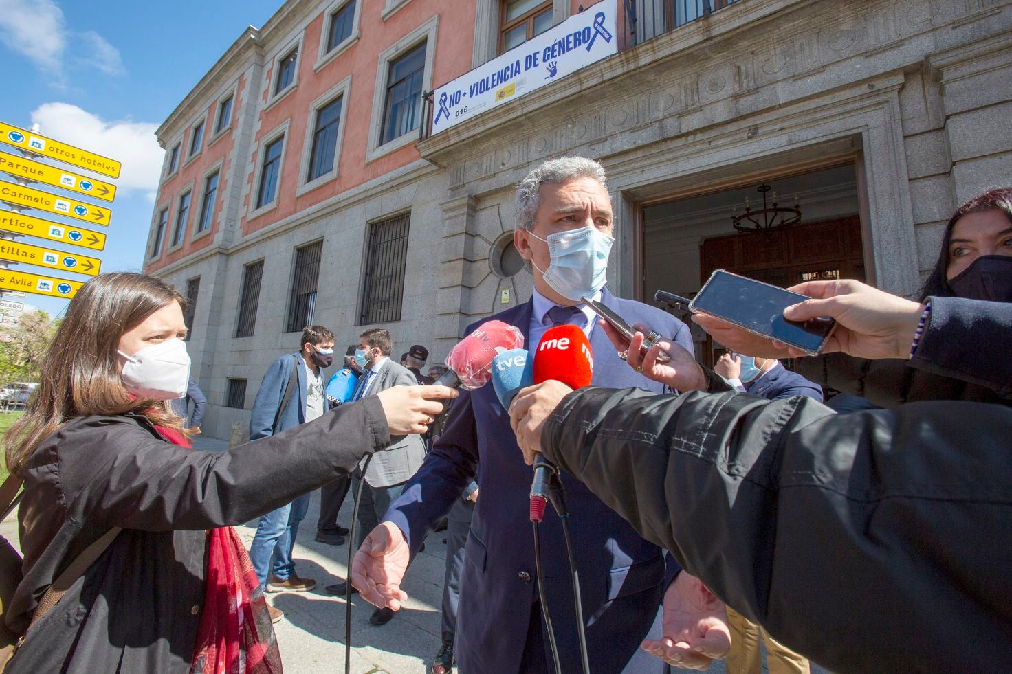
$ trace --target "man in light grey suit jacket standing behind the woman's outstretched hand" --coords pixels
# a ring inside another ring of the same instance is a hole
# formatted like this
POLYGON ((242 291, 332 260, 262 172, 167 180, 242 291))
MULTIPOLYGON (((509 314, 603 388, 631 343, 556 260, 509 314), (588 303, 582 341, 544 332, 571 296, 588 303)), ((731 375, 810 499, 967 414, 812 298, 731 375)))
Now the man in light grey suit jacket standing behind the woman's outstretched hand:
MULTIPOLYGON (((390 358, 394 340, 390 331, 382 328, 366 330, 358 336, 358 348, 355 350, 355 362, 362 368, 358 377, 358 386, 351 401, 375 396, 392 387, 418 386, 415 375, 405 367, 390 358)), ((358 484, 365 481, 362 499, 358 505, 358 526, 355 530, 355 542, 361 545, 366 534, 371 531, 387 512, 392 502, 401 496, 404 484, 421 467, 425 459, 425 445, 419 435, 407 435, 396 440, 383 451, 372 454, 368 470, 362 459, 351 477, 352 494, 358 493, 358 484)), ((346 581, 328 585, 327 592, 343 595, 347 591, 346 581)), ((380 607, 372 612, 369 622, 375 625, 386 624, 394 617, 390 608, 380 607)))

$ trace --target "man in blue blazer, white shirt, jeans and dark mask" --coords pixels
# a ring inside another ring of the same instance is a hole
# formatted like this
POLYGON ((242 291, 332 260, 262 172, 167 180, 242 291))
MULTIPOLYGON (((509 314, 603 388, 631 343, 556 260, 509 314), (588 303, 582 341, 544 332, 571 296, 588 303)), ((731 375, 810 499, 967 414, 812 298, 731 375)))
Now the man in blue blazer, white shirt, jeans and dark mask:
MULTIPOLYGON (((263 375, 250 413, 250 440, 322 416, 329 407, 324 397, 323 370, 333 360, 334 333, 320 325, 303 330, 302 349, 275 360, 263 375)), ((307 494, 260 518, 250 543, 250 561, 266 592, 306 592, 316 587, 312 578, 296 574, 291 559, 299 523, 306 518, 309 507, 307 494)), ((268 608, 274 622, 281 619, 280 609, 268 608)))

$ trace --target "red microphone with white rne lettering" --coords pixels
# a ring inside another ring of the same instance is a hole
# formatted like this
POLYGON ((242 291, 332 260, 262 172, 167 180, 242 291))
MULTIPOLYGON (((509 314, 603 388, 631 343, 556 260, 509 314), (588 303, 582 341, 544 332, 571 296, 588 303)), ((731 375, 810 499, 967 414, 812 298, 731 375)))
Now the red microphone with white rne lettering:
MULTIPOLYGON (((559 325, 545 331, 534 351, 534 384, 555 380, 571 389, 590 386, 594 358, 590 341, 581 328, 559 325)), ((549 486, 558 469, 540 454, 534 461, 534 480, 530 484, 530 521, 544 517, 549 486)))

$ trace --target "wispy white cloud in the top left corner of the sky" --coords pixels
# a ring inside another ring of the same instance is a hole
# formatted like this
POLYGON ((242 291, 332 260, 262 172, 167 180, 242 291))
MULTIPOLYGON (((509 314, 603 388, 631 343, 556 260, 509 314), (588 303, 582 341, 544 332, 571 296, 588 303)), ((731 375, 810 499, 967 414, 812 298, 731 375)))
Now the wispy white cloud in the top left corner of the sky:
POLYGON ((0 0, 0 41, 49 75, 50 84, 66 87, 65 70, 95 69, 108 76, 126 73, 119 50, 94 30, 67 29, 55 0, 0 0))

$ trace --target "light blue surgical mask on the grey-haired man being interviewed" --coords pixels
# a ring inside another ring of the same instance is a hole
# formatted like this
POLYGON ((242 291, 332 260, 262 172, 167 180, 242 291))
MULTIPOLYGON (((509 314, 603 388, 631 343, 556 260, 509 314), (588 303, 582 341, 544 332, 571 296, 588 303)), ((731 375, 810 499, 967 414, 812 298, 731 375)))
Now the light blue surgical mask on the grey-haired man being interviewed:
POLYGON ((604 287, 608 271, 608 255, 612 237, 588 225, 578 230, 550 234, 542 239, 533 232, 527 234, 549 245, 549 268, 542 270, 533 260, 534 268, 544 276, 544 282, 567 300, 579 302, 604 287))

